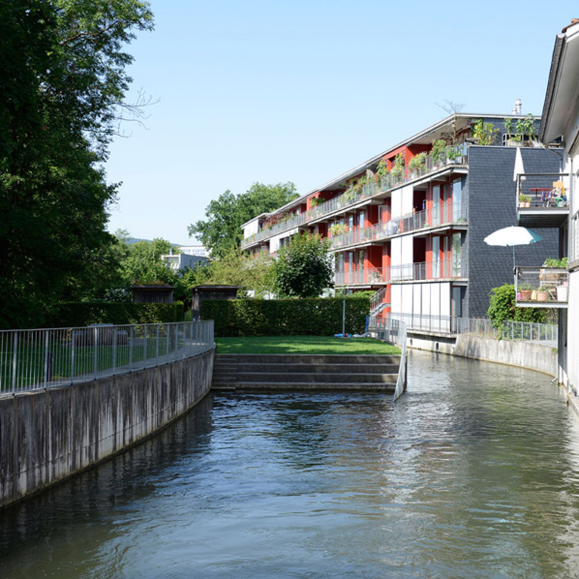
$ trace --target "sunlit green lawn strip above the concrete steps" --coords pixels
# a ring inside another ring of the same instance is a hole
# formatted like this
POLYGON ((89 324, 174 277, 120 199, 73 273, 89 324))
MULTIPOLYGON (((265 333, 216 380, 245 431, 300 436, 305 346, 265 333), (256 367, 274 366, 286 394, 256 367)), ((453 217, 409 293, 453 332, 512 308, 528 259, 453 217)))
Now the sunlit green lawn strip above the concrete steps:
POLYGON ((397 346, 372 338, 248 336, 215 342, 218 354, 400 354, 397 346))

